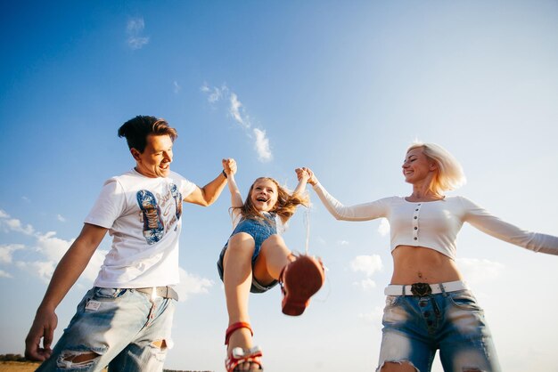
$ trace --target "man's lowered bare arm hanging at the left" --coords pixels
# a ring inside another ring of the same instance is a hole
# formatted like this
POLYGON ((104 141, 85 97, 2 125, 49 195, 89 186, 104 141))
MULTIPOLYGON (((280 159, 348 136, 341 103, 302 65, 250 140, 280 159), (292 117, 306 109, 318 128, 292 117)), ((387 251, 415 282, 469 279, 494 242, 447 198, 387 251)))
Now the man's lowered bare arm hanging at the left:
POLYGON ((46 360, 52 353, 54 329, 58 317, 54 312, 70 288, 86 269, 94 251, 103 240, 107 229, 86 223, 78 238, 54 270, 45 297, 37 309, 33 325, 25 339, 25 357, 29 360, 46 360), (43 347, 40 347, 43 338, 43 347))

